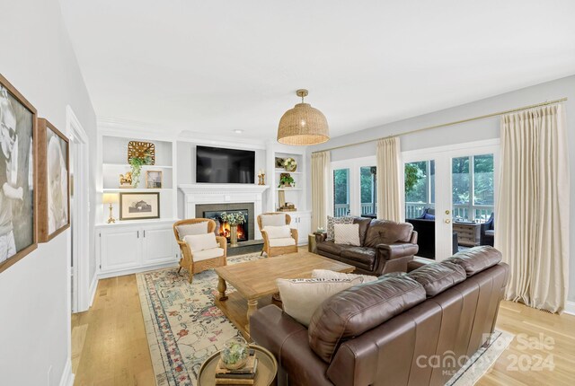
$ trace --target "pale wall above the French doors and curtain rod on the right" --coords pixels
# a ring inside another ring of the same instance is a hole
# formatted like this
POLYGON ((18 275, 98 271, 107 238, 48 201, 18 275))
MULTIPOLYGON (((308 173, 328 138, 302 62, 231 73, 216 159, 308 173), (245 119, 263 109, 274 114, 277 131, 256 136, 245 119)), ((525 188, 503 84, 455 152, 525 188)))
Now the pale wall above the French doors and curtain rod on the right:
MULTIPOLYGON (((417 92, 415 90, 414 92, 417 92)), ((358 132, 333 138, 327 144, 317 145, 309 152, 330 147, 354 144, 369 139, 397 135, 406 131, 453 122, 464 118, 473 118, 492 112, 511 110, 526 105, 552 101, 563 97, 569 98, 565 103, 567 111, 567 128, 569 147, 575 148, 575 75, 553 82, 537 84, 514 92, 507 92, 481 101, 474 101, 447 110, 435 111, 415 118, 404 119, 380 127, 367 128, 358 132)), ((382 106, 385 109, 385 106, 382 106)), ((329 117, 328 117, 329 119, 329 117)), ((464 124, 441 127, 401 137, 402 151, 417 150, 440 145, 454 145, 482 139, 499 138, 500 118, 492 117, 475 120, 464 124)), ((332 161, 365 157, 376 154, 376 143, 349 146, 332 151, 332 161)), ((575 156, 570 159, 571 181, 575 181, 575 156)), ((308 186, 311 186, 308 184, 308 186)), ((311 195, 311 192, 307 192, 311 195)), ((308 199, 308 202, 311 202, 308 199)), ((571 269, 569 300, 575 301, 575 189, 571 189, 571 269)))

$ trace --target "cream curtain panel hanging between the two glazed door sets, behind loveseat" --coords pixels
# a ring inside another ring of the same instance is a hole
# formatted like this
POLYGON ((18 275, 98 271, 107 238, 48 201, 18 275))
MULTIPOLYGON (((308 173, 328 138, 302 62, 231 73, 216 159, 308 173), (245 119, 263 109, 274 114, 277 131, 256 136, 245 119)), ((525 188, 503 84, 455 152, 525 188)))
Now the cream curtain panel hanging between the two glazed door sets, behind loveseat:
POLYGON ((403 221, 401 154, 399 137, 377 141, 377 218, 403 221))

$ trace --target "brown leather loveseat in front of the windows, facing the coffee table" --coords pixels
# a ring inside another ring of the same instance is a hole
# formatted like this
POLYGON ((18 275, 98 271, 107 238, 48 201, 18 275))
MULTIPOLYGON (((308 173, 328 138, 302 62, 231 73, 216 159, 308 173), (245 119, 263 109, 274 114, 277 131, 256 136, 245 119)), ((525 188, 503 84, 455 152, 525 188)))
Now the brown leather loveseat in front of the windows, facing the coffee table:
POLYGON ((326 241, 327 234, 322 233, 315 235, 317 253, 354 266, 357 274, 378 276, 407 270, 418 251, 413 225, 363 217, 355 217, 353 224, 359 224, 360 246, 326 241))

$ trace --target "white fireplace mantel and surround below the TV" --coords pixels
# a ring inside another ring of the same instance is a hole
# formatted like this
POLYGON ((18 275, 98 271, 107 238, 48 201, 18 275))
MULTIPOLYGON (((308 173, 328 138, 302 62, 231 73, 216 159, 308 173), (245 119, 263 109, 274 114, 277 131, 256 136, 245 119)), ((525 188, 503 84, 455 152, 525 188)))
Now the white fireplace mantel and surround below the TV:
MULTIPOLYGON (((186 218, 196 217, 198 204, 239 204, 252 203, 253 215, 261 215, 261 196, 268 185, 252 184, 185 184, 178 185, 184 198, 186 218)), ((261 238, 260 230, 255 227, 256 239, 261 238)))

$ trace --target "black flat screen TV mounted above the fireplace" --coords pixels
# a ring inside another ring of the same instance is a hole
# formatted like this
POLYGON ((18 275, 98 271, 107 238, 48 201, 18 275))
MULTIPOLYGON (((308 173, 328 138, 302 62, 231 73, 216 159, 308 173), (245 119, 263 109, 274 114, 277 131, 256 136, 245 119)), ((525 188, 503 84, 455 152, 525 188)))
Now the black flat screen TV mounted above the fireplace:
POLYGON ((255 152, 197 146, 196 182, 212 184, 252 184, 255 152))

